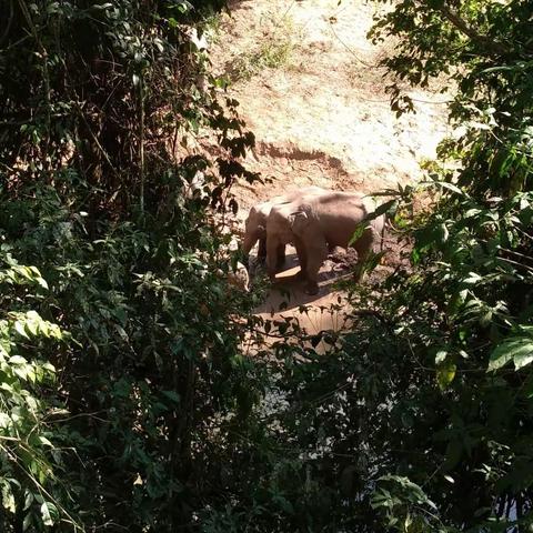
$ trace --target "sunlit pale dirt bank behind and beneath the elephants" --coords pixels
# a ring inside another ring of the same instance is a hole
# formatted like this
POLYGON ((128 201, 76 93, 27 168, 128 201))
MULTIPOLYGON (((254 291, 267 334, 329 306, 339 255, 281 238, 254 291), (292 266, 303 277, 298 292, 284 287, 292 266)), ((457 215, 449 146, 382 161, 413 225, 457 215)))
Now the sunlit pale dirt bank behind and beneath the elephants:
MULTIPOLYGON (((239 0, 222 18, 210 58, 215 73, 232 78, 229 95, 255 134, 245 164, 269 179, 238 187, 243 219, 258 201, 309 184, 366 193, 395 189, 420 179, 420 162, 435 157, 449 133, 450 97, 438 88, 410 91, 416 113, 396 119, 385 93, 390 80, 379 67, 394 42, 366 39, 375 9, 364 0, 239 0)), ((298 271, 296 264, 293 259, 288 269, 298 271)), ((310 332, 339 329, 342 318, 320 311, 336 302, 331 284, 338 266, 324 264, 316 296, 290 285, 281 314, 299 316, 310 332), (314 312, 303 316, 299 304, 312 304, 314 312)), ((283 300, 274 289, 258 313, 278 314, 283 300)))

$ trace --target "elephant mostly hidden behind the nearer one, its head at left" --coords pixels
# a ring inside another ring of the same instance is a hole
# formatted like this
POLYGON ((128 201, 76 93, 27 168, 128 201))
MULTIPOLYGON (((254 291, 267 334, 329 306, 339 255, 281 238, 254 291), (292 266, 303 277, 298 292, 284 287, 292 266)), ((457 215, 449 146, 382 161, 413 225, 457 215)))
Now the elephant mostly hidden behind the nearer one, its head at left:
MULTIPOLYGON (((244 238, 242 240, 242 252, 248 261, 250 251, 259 241, 258 260, 260 263, 264 263, 266 259, 266 218, 270 214, 270 210, 274 205, 282 205, 294 201, 303 201, 310 195, 315 195, 324 192, 324 189, 320 187, 303 187, 294 191, 290 191, 286 194, 271 198, 264 202, 260 202, 253 205, 248 213, 248 218, 244 222, 244 238)), ((276 268, 281 268, 285 260, 285 244, 280 244, 275 252, 276 268)))

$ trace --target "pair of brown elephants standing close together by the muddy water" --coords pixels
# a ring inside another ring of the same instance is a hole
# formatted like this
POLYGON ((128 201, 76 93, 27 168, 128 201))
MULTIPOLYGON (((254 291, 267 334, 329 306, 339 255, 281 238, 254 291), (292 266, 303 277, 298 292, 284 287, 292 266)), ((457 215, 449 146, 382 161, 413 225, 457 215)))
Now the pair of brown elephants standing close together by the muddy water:
POLYGON ((319 292, 319 270, 335 247, 354 248, 362 262, 381 248, 384 215, 369 218, 358 237, 354 232, 375 210, 373 201, 359 192, 305 187, 254 205, 247 218, 242 252, 248 259, 259 241, 258 260, 266 263, 271 280, 285 260, 285 245, 293 244, 300 262, 299 278, 305 292, 319 292), (353 239, 353 242, 351 242, 353 239))

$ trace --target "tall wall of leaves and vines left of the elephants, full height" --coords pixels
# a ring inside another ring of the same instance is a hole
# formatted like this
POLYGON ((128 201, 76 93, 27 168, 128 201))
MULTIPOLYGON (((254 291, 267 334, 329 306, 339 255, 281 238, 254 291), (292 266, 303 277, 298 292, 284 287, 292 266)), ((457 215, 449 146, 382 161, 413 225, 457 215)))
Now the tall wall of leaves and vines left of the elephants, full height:
POLYGON ((192 530, 260 396, 221 231, 253 135, 193 33, 221 7, 2 4, 7 533, 192 530), (201 130, 215 161, 180 157, 201 130))

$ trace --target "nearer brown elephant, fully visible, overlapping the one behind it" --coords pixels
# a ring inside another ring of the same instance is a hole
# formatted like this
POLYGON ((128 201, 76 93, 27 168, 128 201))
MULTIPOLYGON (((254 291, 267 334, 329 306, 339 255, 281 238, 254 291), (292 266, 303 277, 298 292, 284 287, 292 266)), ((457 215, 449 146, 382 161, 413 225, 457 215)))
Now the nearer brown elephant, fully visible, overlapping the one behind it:
MULTIPOLYGON (((334 247, 348 248, 358 225, 375 209, 370 197, 359 192, 324 191, 305 201, 273 205, 266 220, 266 268, 271 279, 279 269, 276 250, 293 243, 300 260, 300 275, 306 292, 319 292, 318 274, 334 247)), ((362 262, 382 241, 384 215, 369 220, 368 227, 351 247, 362 262)))

